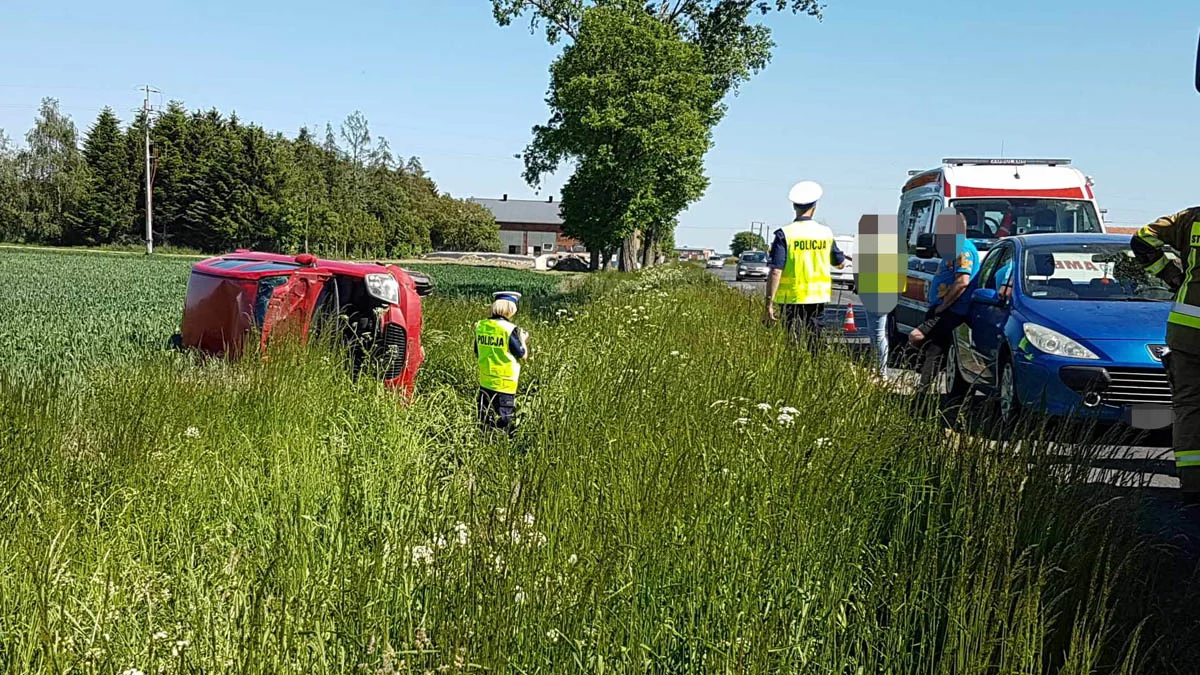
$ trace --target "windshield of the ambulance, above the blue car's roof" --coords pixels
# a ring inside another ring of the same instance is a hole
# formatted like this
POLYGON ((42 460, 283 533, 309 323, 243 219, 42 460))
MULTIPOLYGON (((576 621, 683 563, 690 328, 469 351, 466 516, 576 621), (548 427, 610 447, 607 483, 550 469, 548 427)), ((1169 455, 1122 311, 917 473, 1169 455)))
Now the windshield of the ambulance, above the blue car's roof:
POLYGON ((1103 232, 1091 202, 1081 199, 956 199, 967 237, 998 239, 1045 232, 1103 232))

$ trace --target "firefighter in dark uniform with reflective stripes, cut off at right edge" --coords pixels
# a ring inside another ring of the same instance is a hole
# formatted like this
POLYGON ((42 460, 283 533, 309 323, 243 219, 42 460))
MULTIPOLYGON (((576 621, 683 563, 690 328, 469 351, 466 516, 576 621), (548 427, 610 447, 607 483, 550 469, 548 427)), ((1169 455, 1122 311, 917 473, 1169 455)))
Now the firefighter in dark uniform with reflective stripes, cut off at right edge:
POLYGON ((1147 273, 1176 292, 1163 356, 1171 382, 1171 450, 1184 498, 1200 502, 1200 207, 1142 227, 1129 246, 1147 273), (1164 246, 1178 252, 1182 269, 1166 257, 1164 246))

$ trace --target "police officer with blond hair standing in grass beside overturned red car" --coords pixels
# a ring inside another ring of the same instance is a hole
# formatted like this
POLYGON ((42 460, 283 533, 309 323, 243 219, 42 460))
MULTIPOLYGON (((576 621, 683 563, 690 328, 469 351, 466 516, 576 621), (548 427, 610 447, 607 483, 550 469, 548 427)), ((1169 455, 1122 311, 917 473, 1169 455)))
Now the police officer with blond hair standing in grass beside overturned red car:
POLYGON ((509 434, 515 428, 521 362, 529 354, 529 334, 512 323, 520 299, 521 293, 514 291, 494 293, 492 316, 475 323, 479 423, 509 434))

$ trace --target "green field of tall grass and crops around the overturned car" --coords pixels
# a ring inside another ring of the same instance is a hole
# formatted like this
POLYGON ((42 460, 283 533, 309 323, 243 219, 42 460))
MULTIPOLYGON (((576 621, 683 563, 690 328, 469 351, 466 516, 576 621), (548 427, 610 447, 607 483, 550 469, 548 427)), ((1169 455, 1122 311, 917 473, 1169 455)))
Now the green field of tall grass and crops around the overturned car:
POLYGON ((1094 448, 949 434, 702 270, 431 267, 402 406, 166 351, 187 265, 0 251, 5 671, 1196 671, 1094 448), (514 286, 510 442, 469 327, 514 286))

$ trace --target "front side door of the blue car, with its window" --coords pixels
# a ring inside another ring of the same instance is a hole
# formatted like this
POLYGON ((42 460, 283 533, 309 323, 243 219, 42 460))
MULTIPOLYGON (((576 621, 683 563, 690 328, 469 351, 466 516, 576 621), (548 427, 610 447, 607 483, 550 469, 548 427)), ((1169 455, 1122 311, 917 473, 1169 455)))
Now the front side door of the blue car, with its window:
POLYGON ((1012 311, 1013 279, 1016 275, 1015 246, 1002 243, 988 255, 977 285, 972 291, 971 354, 964 358, 964 369, 973 371, 977 380, 992 383, 996 359, 1004 344, 1004 327, 1012 311), (983 291, 982 293, 979 291, 983 291))

